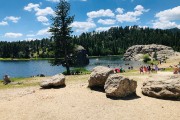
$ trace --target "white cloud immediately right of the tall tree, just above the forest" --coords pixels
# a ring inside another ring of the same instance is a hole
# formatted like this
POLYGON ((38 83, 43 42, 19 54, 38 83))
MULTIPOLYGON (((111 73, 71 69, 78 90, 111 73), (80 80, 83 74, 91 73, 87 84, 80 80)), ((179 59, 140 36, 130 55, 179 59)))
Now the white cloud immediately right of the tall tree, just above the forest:
POLYGON ((95 28, 96 24, 94 22, 73 22, 71 27, 75 29, 76 32, 86 32, 89 29, 95 28))

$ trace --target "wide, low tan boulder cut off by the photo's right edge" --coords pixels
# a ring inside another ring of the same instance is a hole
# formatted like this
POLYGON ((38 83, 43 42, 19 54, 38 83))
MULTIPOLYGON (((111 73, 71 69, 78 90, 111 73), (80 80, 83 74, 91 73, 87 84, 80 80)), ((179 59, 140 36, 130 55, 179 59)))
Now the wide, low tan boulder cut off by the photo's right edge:
POLYGON ((146 81, 143 83, 142 93, 155 98, 179 98, 180 76, 170 77, 162 81, 146 81))

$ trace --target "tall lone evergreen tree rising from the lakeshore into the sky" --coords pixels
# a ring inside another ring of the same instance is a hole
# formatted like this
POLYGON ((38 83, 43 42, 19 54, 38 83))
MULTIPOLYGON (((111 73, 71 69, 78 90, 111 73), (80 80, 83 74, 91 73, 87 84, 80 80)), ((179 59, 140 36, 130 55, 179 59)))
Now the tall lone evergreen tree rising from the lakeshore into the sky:
POLYGON ((66 0, 60 0, 56 7, 55 17, 52 18, 53 24, 50 28, 52 38, 54 39, 54 55, 53 65, 63 65, 66 67, 67 74, 70 74, 70 59, 73 51, 71 42, 70 24, 74 20, 74 16, 69 15, 70 3, 66 0), (63 58, 63 59, 60 59, 63 58))

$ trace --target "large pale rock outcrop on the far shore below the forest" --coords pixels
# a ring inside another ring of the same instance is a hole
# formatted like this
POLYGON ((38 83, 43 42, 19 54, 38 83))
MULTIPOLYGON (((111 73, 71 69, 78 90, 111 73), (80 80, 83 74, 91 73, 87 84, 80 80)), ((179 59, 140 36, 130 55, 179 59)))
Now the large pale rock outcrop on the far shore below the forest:
POLYGON ((157 54, 158 60, 165 60, 166 57, 174 55, 174 50, 165 45, 134 45, 126 50, 124 60, 140 61, 144 54, 149 54, 153 58, 154 53, 157 54))

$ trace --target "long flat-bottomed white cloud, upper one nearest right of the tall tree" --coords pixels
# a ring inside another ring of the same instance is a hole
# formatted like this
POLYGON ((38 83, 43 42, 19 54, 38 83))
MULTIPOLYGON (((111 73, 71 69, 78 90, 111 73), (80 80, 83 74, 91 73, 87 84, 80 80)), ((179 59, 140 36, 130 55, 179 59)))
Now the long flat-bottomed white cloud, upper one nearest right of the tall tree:
POLYGON ((115 15, 110 9, 107 10, 101 9, 99 11, 88 12, 87 16, 89 18, 98 18, 98 17, 114 17, 115 15))

